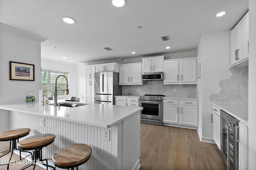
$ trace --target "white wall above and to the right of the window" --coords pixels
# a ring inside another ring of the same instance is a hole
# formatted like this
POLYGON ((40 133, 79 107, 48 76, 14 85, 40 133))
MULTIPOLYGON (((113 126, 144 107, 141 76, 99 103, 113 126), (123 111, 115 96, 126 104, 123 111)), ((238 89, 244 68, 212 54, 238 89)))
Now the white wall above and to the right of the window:
POLYGON ((41 58, 42 69, 64 71, 69 73, 68 89, 69 96, 58 97, 58 99, 70 99, 72 96, 78 96, 78 68, 76 64, 66 63, 62 61, 41 58))

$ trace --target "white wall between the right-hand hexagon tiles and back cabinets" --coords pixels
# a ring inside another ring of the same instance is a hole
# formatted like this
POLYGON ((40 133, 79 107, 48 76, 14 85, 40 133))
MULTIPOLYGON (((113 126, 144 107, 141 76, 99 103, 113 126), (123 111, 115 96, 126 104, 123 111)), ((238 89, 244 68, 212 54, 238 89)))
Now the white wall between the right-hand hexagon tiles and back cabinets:
POLYGON ((199 131, 202 141, 212 141, 211 93, 218 93, 218 82, 228 78, 230 67, 230 30, 202 35, 198 46, 198 63, 201 63, 201 78, 198 79, 199 131), (202 124, 202 127, 201 127, 202 124))

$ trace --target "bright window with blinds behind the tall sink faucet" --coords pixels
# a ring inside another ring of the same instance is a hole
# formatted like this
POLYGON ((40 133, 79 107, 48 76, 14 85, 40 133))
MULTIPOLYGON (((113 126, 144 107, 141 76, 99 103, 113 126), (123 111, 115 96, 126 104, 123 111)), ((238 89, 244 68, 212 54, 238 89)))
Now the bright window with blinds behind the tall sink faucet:
MULTIPOLYGON (((41 89, 42 90, 51 90, 48 91, 48 96, 54 95, 55 92, 55 81, 56 77, 59 75, 64 75, 68 78, 68 73, 66 72, 56 72, 56 71, 50 71, 50 70, 42 70, 41 71, 41 89)), ((58 91, 57 94, 58 96, 68 96, 66 95, 66 90, 67 89, 67 83, 66 83, 66 78, 63 76, 60 76, 57 80, 57 89, 62 90, 58 91)), ((44 92, 44 95, 46 95, 46 92, 44 92)))

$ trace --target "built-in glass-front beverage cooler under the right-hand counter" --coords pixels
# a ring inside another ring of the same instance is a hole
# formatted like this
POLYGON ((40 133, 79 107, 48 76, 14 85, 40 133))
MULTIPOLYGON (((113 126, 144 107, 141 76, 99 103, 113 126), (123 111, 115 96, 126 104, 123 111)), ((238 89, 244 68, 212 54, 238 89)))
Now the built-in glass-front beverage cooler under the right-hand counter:
POLYGON ((220 110, 221 151, 228 170, 238 170, 239 120, 220 110))

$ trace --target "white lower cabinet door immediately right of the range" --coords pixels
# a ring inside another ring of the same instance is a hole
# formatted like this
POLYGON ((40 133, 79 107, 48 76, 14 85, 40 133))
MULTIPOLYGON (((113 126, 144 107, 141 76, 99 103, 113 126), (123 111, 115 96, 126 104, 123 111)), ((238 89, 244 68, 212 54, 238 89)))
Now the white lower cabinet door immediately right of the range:
POLYGON ((179 123, 178 105, 171 105, 171 104, 163 105, 163 122, 179 123))

